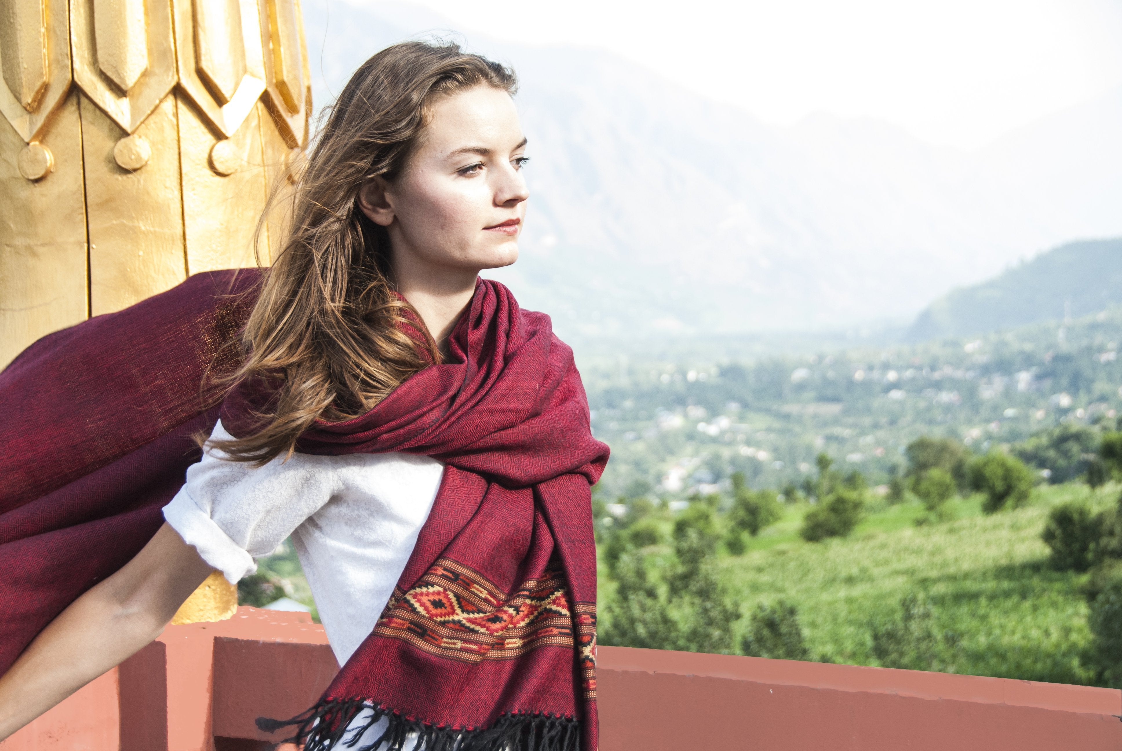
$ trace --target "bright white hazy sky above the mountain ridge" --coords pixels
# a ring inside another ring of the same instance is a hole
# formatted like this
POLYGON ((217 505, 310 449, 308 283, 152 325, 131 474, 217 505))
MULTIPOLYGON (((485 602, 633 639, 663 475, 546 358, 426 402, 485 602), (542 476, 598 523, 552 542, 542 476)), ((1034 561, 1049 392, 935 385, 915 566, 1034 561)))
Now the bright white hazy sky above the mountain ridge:
POLYGON ((964 147, 1122 85, 1122 0, 416 4, 468 34, 613 49, 769 122, 868 116, 964 147))

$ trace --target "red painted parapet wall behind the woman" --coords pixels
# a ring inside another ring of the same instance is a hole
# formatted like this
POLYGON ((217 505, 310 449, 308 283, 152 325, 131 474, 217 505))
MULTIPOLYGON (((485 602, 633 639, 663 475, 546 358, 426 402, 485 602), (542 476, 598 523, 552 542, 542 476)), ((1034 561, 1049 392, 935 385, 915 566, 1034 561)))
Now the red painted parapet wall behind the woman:
MULTIPOLYGON (((241 607, 168 626, 0 751, 272 750, 254 720, 309 707, 337 669, 306 614, 241 607)), ((1107 688, 614 647, 598 679, 603 751, 1122 749, 1107 688)))

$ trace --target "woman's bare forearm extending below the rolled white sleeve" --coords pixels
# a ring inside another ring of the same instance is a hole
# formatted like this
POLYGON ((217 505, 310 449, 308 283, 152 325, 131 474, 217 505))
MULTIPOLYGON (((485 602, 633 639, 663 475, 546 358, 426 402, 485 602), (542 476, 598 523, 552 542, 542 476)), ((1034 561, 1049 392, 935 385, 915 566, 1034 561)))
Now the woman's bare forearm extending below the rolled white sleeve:
POLYGON ((211 567, 167 524, 75 599, 0 678, 0 740, 153 641, 211 567))

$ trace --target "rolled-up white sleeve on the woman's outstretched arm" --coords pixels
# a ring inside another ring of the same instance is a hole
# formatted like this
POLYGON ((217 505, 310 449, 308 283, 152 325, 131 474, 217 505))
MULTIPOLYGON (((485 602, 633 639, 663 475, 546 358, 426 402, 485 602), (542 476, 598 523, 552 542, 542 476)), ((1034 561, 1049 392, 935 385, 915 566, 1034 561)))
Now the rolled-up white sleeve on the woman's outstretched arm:
MULTIPOLYGON (((211 439, 229 438, 219 422, 211 439)), ((269 555, 328 503, 339 489, 335 483, 331 457, 294 454, 256 467, 208 448, 164 506, 164 520, 237 584, 257 570, 254 558, 269 555)))

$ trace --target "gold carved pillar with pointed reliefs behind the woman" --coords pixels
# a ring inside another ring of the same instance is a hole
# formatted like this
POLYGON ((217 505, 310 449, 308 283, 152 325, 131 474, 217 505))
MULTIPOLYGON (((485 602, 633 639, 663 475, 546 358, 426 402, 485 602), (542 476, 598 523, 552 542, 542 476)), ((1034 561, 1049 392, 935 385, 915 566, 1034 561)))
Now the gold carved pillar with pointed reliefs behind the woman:
MULTIPOLYGON (((0 368, 188 275, 269 260, 307 141, 298 0, 0 0, 0 368)), ((177 622, 228 616, 211 577, 177 622)))

